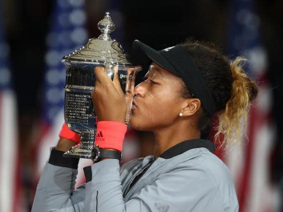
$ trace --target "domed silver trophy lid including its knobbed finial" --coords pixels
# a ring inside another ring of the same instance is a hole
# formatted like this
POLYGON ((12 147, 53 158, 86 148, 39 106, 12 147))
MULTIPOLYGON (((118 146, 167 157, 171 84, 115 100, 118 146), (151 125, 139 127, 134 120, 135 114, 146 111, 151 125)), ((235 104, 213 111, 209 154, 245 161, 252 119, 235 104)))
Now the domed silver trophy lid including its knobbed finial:
POLYGON ((64 56, 62 61, 87 63, 111 61, 117 65, 132 66, 127 61, 127 55, 124 53, 121 44, 112 40, 109 35, 116 28, 109 16, 109 12, 105 13, 104 18, 98 22, 97 27, 101 31, 101 35, 98 38, 89 39, 85 46, 64 56))

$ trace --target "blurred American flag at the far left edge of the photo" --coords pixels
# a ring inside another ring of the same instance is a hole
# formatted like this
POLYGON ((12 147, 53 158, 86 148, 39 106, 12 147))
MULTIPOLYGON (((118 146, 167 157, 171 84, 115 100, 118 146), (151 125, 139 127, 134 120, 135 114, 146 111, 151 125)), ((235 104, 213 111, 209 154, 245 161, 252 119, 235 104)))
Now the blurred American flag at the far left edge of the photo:
MULTIPOLYGON (((0 5, 2 2, 0 2, 0 5)), ((16 95, 0 7, 0 211, 22 211, 16 95)))

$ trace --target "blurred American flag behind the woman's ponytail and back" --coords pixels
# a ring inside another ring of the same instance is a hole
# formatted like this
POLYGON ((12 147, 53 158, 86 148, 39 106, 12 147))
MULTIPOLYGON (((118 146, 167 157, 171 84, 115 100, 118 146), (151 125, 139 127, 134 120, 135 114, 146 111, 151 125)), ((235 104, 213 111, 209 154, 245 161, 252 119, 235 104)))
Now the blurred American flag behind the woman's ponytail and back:
POLYGON ((224 158, 232 172, 239 200, 239 211, 277 211, 279 195, 271 185, 270 154, 274 142, 271 120, 272 99, 267 78, 267 56, 262 46, 260 20, 252 0, 231 0, 228 19, 227 53, 249 60, 244 70, 258 84, 258 97, 249 111, 247 140, 224 158))

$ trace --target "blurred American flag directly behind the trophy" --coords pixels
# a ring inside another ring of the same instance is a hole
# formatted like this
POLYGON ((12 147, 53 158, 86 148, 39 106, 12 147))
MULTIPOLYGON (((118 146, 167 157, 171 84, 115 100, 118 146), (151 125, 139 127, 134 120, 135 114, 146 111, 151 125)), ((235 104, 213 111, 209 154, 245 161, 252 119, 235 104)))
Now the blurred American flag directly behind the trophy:
MULTIPOLYGON (((49 149, 56 146, 58 134, 64 123, 64 86, 66 70, 61 62, 63 56, 81 48, 88 40, 85 29, 87 16, 84 0, 57 0, 49 23, 50 30, 46 37, 47 52, 45 55, 45 78, 42 92, 42 114, 38 139, 34 143, 36 154, 37 184, 43 167, 49 158, 49 149)), ((81 159, 79 170, 89 160, 81 159)), ((77 184, 84 181, 79 171, 77 184)))

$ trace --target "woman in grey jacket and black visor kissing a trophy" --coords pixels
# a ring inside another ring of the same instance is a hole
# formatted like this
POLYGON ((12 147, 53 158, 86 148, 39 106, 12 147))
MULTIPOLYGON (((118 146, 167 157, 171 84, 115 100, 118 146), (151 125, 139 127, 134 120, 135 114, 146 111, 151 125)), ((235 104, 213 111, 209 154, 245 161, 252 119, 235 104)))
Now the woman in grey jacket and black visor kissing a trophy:
POLYGON ((147 79, 134 89, 130 125, 154 133, 154 155, 119 167, 126 104, 117 75, 112 82, 97 67, 95 144, 108 156, 94 155, 98 160, 84 168, 87 182, 74 190, 78 159, 64 158, 62 151, 78 140, 63 125, 33 211, 238 211, 230 172, 200 132, 218 116, 219 145, 228 149, 240 142, 257 95, 255 82, 241 69, 243 59, 230 61, 196 41, 159 52, 134 41, 132 51, 137 64, 150 67, 147 79))

